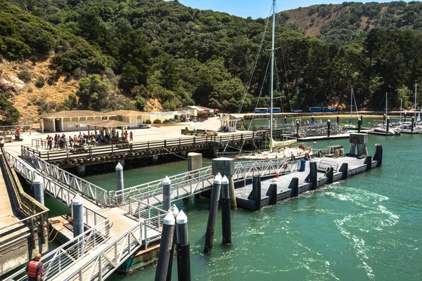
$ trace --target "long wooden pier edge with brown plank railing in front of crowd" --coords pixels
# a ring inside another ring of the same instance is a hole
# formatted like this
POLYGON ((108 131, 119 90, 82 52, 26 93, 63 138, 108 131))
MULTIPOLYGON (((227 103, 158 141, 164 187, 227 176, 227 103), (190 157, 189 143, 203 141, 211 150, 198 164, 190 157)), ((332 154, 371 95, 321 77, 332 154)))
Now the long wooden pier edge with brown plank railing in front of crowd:
MULTIPOLYGON (((127 142, 115 145, 100 145, 98 147, 79 148, 77 150, 46 149, 45 141, 36 141, 31 146, 23 146, 46 162, 68 168, 72 166, 92 165, 105 162, 115 162, 122 159, 137 159, 153 157, 154 155, 170 155, 179 152, 198 150, 218 150, 226 145, 239 146, 264 141, 269 136, 267 131, 243 131, 237 133, 220 133, 218 136, 184 136, 158 141, 127 142)), ((281 136, 281 131, 279 131, 281 136)))

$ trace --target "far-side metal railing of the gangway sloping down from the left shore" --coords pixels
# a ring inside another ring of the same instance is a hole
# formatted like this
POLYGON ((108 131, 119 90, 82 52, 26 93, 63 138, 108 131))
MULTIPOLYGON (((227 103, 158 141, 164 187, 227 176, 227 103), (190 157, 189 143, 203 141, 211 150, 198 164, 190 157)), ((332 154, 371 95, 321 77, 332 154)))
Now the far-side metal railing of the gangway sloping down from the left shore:
POLYGON ((110 206, 108 190, 100 188, 93 183, 89 183, 89 181, 85 181, 83 178, 79 178, 68 171, 60 169, 58 166, 49 164, 25 148, 21 149, 21 157, 30 163, 32 167, 39 169, 41 174, 56 178, 57 181, 68 185, 73 190, 81 193, 84 197, 94 200, 98 206, 110 206))

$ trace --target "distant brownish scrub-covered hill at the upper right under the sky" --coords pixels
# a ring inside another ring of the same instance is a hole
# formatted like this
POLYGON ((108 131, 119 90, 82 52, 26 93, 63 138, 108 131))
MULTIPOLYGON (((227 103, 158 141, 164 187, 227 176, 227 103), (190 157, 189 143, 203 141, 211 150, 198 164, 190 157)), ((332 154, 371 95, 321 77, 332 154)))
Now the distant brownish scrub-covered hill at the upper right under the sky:
POLYGON ((286 26, 336 44, 364 39, 374 28, 380 30, 422 31, 422 3, 344 2, 297 8, 283 12, 286 26))

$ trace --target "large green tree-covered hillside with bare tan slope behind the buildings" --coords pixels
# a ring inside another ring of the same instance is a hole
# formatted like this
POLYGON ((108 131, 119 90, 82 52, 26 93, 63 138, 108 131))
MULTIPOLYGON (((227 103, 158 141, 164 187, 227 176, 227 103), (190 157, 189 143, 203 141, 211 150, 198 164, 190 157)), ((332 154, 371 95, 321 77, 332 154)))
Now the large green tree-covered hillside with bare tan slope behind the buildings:
MULTIPOLYGON (((287 18, 280 13, 276 20, 275 93, 286 111, 345 106, 351 86, 359 107, 377 109, 385 91, 392 106, 401 97, 411 101, 410 89, 421 81, 420 34, 373 29, 359 41, 334 44, 295 31, 287 18)), ((175 110, 193 103, 237 112, 266 27, 264 19, 177 1, 0 0, 1 95, 26 110, 25 117, 76 108, 175 110), (2 84, 13 72, 22 87, 2 84)), ((269 79, 270 29, 243 111, 255 107, 261 91, 269 96, 262 81, 269 79)), ((258 103, 267 104, 263 98, 258 103)))

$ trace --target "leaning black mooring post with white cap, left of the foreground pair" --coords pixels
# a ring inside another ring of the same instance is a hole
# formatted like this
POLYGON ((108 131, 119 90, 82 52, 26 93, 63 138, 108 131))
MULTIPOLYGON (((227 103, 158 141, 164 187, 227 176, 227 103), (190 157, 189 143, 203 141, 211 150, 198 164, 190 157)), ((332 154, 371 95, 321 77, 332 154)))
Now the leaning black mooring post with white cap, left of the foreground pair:
POLYGON ((167 278, 170 250, 173 244, 174 222, 174 216, 171 212, 169 212, 162 223, 160 250, 158 251, 157 269, 155 270, 155 281, 165 281, 167 278))

